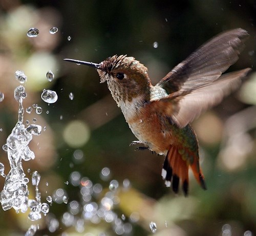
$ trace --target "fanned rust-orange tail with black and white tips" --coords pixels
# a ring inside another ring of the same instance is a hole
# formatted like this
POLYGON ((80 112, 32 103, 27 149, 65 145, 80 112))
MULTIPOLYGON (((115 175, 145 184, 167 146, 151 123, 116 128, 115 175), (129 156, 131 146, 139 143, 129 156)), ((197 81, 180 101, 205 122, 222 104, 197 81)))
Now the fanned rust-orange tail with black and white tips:
POLYGON ((165 185, 172 185, 173 191, 178 193, 179 182, 182 182, 182 189, 185 196, 188 193, 188 167, 191 167, 193 174, 201 185, 206 190, 203 173, 199 167, 199 157, 188 149, 179 149, 176 146, 170 146, 164 160, 162 177, 165 179, 165 185), (180 150, 183 150, 181 152, 180 150), (172 184, 171 184, 172 183, 172 184))

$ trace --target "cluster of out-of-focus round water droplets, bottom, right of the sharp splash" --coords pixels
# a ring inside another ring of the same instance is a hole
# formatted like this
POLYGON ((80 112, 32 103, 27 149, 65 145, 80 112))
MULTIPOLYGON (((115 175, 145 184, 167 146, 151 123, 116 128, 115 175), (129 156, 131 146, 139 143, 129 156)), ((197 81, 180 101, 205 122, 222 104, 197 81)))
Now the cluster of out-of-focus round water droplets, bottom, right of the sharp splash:
MULTIPOLYGON (((110 169, 103 168, 102 173, 106 176, 110 176, 110 169)), ((133 230, 132 223, 139 220, 138 213, 133 213, 130 222, 125 222, 125 215, 115 213, 116 205, 120 200, 118 193, 120 191, 126 191, 124 187, 117 185, 116 180, 110 180, 109 185, 114 185, 115 189, 108 190, 108 187, 103 186, 100 183, 93 183, 88 177, 82 176, 81 173, 74 171, 70 174, 70 184, 78 186, 80 188, 80 201, 72 200, 67 203, 68 210, 62 215, 60 221, 55 216, 48 214, 47 221, 48 229, 51 232, 57 230, 58 227, 74 227, 78 233, 85 233, 88 224, 99 224, 100 222, 109 223, 111 230, 117 235, 131 235, 133 230)), ((126 179, 126 181, 129 181, 126 179)), ((130 183, 130 181, 129 181, 130 183)), ((108 183, 105 183, 108 185, 108 183)), ((66 191, 63 188, 58 188, 53 193, 53 201, 61 204, 64 202, 63 198, 67 196, 66 191)), ((113 235, 114 235, 113 234, 113 235)), ((100 234, 101 235, 101 234, 100 234)), ((102 232, 102 235, 106 235, 102 232)))

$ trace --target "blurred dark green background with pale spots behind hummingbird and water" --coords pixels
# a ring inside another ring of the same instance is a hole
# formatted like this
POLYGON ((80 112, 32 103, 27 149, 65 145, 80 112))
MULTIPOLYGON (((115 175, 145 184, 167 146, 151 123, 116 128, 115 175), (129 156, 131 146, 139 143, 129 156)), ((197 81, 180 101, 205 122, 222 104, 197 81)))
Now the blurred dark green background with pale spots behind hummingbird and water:
MULTIPOLYGON (((14 73, 24 70, 28 76, 24 107, 38 104, 43 109, 40 115, 35 109, 26 113, 25 120, 33 123, 36 118, 36 124, 46 126, 31 141, 36 158, 24 162, 24 170, 41 174, 42 201, 48 195, 56 197, 58 189, 68 197, 66 204, 55 198, 50 214, 35 222, 39 225, 36 235, 151 235, 151 222, 156 223, 157 236, 256 235, 253 71, 238 92, 193 123, 208 190, 203 191, 190 176, 185 198, 165 187, 161 179, 164 157, 129 146, 135 137, 106 84, 99 83, 97 72, 62 61, 99 63, 127 54, 148 67, 155 84, 209 38, 243 28, 251 36, 240 60, 229 70, 254 69, 255 23, 252 0, 0 0, 0 91, 5 95, 0 103, 1 144, 17 122, 14 73), (27 37, 31 27, 39 29, 38 37, 27 37), (52 27, 58 28, 56 34, 49 33, 52 27), (52 82, 46 78, 49 70, 55 74, 52 82), (57 92, 56 103, 41 100, 44 88, 57 92), (109 175, 104 172, 108 170, 109 175), (117 180, 118 187, 111 180, 117 180), (89 189, 86 199, 80 193, 83 187, 89 189), (112 218, 100 213, 95 219, 87 218, 84 213, 91 205, 103 207, 112 218)), ((7 154, 0 153, 7 174, 7 154)), ((2 189, 4 178, 0 184, 2 189)), ((30 194, 34 194, 32 187, 30 194)), ((24 235, 34 223, 26 214, 2 208, 0 219, 1 235, 24 235)))

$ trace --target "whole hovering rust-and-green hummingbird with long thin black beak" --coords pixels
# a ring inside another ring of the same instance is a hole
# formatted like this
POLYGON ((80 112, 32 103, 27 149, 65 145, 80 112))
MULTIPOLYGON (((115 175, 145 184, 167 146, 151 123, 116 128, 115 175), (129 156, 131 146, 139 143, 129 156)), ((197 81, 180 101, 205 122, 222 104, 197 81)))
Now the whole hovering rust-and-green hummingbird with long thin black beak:
MULTIPOLYGON (((250 68, 226 73, 239 59, 248 33, 243 29, 223 32, 203 44, 175 66, 155 86, 147 68, 127 55, 112 56, 97 63, 64 59, 96 68, 100 82, 106 81, 118 107, 143 145, 164 155, 162 177, 178 193, 188 194, 188 170, 206 190, 199 163, 197 135, 190 123, 206 109, 217 105, 237 89, 250 68)), ((210 134, 209 134, 210 135, 210 134)))

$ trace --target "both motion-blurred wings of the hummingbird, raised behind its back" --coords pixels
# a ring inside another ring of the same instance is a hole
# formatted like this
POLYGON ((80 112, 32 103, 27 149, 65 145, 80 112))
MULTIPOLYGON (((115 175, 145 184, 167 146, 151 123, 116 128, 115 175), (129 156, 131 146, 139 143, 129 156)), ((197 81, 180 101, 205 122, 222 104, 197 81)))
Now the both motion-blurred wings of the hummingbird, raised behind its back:
POLYGON ((205 43, 178 64, 157 85, 169 95, 151 103, 171 116, 180 128, 192 122, 202 111, 217 105, 233 90, 250 68, 222 75, 238 60, 248 34, 243 29, 224 32, 205 43), (222 76, 221 76, 222 75, 222 76))

